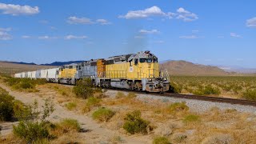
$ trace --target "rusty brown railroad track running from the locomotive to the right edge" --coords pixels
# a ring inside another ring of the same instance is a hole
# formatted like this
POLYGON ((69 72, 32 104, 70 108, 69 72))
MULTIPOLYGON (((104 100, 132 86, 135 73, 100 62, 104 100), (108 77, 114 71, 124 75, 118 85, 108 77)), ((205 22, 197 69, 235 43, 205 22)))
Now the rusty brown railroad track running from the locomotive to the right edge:
MULTIPOLYGON (((131 90, 119 90, 119 91, 130 92, 131 90)), ((133 91, 133 92, 137 94, 146 94, 145 92, 141 92, 141 91, 133 91)), ((208 102, 222 102, 222 103, 238 104, 243 106, 256 106, 256 101, 250 101, 250 100, 244 100, 244 99, 220 98, 220 97, 199 96, 199 95, 190 95, 190 94, 174 94, 174 93, 149 94, 149 95, 157 95, 157 96, 169 97, 169 98, 195 99, 195 100, 208 101, 208 102)))

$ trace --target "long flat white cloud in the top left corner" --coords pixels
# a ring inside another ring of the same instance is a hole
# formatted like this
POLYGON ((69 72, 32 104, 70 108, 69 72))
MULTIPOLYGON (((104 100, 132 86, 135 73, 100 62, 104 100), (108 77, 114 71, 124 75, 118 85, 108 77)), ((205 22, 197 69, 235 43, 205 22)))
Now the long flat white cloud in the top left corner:
POLYGON ((2 14, 12 15, 31 15, 38 14, 40 12, 38 6, 31 7, 5 3, 0 3, 0 10, 2 10, 2 14))

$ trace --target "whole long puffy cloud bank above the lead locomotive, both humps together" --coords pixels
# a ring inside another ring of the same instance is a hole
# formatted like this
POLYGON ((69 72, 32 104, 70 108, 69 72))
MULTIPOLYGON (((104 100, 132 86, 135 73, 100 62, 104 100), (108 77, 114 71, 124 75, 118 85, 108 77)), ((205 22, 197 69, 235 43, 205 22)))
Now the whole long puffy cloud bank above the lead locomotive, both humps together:
POLYGON ((198 15, 194 14, 184 8, 180 7, 176 10, 176 13, 172 12, 163 12, 158 6, 152 6, 145 10, 130 10, 125 15, 119 15, 118 18, 149 18, 151 16, 161 16, 165 18, 177 18, 181 19, 184 22, 191 22, 198 19, 198 15))

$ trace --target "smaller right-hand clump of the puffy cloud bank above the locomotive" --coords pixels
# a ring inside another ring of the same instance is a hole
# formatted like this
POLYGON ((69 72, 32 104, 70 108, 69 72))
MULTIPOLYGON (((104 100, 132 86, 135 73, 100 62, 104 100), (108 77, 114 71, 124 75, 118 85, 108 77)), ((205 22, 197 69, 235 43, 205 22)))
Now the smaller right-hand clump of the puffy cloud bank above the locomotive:
POLYGON ((185 10, 184 8, 180 7, 177 10, 178 16, 176 18, 182 19, 184 22, 191 22, 196 19, 198 19, 198 15, 191 13, 188 10, 185 10))

